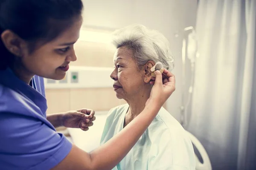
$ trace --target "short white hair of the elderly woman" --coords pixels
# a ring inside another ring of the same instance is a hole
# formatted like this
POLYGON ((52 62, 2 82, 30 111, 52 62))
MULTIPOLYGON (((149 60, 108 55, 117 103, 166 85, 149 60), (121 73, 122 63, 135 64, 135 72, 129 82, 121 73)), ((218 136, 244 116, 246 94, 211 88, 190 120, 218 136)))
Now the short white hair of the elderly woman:
POLYGON ((113 32, 113 44, 116 48, 126 46, 134 52, 139 66, 149 60, 162 62, 163 68, 174 68, 174 56, 169 48, 169 41, 158 31, 133 24, 113 32))

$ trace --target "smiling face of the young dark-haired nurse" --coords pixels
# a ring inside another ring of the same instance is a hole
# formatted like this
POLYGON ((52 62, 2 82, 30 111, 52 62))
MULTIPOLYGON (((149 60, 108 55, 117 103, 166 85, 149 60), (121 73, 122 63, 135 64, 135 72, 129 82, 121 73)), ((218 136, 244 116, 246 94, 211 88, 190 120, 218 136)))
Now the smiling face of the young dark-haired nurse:
POLYGON ((32 53, 25 50, 21 63, 27 72, 50 79, 63 79, 71 61, 76 61, 73 45, 79 38, 82 20, 64 31, 51 42, 40 46, 32 53))

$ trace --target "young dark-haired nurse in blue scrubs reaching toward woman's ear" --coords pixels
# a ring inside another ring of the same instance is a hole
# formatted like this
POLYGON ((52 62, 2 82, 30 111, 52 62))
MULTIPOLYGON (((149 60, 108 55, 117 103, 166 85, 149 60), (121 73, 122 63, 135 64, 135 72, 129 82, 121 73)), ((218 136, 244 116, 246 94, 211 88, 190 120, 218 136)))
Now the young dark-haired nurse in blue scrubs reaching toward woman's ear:
POLYGON ((140 115, 91 153, 56 133, 58 126, 88 127, 94 117, 87 109, 46 117, 41 78, 63 79, 76 60, 73 44, 79 38, 82 8, 81 0, 0 0, 1 169, 110 170, 175 91, 174 76, 165 70, 168 79, 163 85, 157 71, 140 115))

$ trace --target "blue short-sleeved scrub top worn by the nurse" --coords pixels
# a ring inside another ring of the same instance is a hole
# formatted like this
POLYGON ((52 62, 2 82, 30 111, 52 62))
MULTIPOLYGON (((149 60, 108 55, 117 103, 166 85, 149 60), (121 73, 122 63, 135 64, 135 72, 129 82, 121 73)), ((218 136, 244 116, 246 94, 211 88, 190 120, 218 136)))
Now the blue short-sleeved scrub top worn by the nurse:
POLYGON ((46 119, 44 79, 32 87, 11 69, 0 71, 0 169, 48 170, 70 152, 72 144, 46 119))

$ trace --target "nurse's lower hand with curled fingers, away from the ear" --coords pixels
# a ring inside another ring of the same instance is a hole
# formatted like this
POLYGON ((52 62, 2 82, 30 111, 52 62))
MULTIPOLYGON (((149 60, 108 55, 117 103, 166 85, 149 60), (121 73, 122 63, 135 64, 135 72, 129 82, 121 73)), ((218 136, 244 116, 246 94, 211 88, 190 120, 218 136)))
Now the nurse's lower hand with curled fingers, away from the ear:
POLYGON ((81 130, 87 131, 96 119, 94 114, 95 112, 90 109, 68 111, 62 115, 62 126, 80 128, 81 130))

